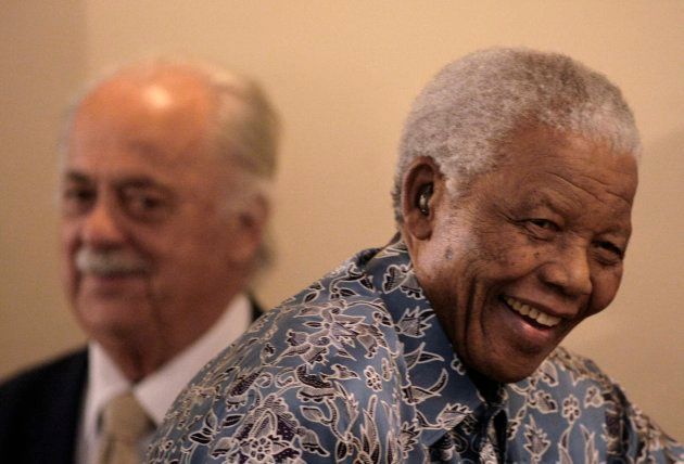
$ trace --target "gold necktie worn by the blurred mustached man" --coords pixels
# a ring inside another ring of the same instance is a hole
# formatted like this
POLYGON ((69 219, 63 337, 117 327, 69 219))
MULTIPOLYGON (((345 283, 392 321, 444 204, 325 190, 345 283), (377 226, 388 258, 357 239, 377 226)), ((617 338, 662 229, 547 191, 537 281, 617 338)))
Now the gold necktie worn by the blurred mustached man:
POLYGON ((102 413, 98 464, 140 464, 138 442, 153 428, 150 417, 128 391, 113 398, 102 413))

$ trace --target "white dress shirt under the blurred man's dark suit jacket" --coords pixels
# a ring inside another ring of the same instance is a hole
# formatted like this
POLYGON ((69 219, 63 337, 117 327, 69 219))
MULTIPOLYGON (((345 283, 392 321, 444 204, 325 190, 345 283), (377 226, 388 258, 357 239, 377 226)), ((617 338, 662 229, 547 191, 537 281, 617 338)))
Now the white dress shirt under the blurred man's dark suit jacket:
MULTIPOLYGON (((221 349, 232 344, 250 326, 252 308, 245 295, 232 299, 216 323, 192 345, 131 387, 104 349, 97 343, 88 345, 88 384, 85 407, 76 438, 76 462, 92 464, 101 441, 100 415, 115 396, 132 389, 136 399, 155 426, 164 420, 166 410, 188 382, 221 349)), ((144 457, 152 435, 140 441, 140 460, 144 457)))

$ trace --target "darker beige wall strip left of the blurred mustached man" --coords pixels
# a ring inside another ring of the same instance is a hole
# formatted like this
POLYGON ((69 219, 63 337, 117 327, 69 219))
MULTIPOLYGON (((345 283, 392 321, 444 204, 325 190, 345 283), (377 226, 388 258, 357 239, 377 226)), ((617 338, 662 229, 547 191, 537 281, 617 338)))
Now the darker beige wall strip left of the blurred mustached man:
POLYGON ((0 8, 0 375, 81 339, 58 284, 55 140, 86 75, 78 0, 0 8))

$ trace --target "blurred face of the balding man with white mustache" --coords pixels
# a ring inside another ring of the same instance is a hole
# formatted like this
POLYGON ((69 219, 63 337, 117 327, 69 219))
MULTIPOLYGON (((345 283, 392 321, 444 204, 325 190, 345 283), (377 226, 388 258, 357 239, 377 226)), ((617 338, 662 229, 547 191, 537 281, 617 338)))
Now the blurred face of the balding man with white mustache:
POLYGON ((62 172, 63 276, 96 339, 194 338, 227 305, 240 244, 231 172, 192 80, 114 80, 75 115, 62 172))

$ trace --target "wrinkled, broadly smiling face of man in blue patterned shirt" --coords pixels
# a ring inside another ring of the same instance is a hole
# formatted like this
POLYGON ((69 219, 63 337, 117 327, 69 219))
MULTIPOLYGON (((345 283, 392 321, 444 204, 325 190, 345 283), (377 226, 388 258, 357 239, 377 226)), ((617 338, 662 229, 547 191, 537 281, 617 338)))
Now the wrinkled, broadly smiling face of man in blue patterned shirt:
POLYGON ((507 150, 465 197, 434 205, 415 262, 464 362, 517 382, 613 299, 637 176, 632 157, 549 131, 507 150))

